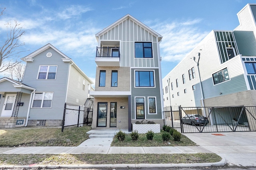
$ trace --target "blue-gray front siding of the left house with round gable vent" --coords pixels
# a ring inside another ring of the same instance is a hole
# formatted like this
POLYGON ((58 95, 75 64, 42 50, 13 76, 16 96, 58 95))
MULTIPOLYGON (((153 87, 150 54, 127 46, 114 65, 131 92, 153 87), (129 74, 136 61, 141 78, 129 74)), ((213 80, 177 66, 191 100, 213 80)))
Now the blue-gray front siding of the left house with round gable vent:
POLYGON ((54 92, 51 108, 31 108, 29 120, 62 120, 66 97, 69 63, 54 49, 49 48, 33 57, 33 62, 26 63, 22 83, 36 88, 36 92, 54 92), (52 53, 52 57, 46 57, 52 53), (55 80, 37 80, 40 65, 58 65, 55 80))

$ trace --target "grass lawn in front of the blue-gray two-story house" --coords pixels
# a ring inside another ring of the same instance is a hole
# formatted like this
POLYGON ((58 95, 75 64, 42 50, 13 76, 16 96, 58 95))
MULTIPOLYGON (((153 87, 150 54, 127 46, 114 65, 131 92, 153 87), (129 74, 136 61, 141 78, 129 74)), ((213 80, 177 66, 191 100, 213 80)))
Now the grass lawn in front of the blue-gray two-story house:
POLYGON ((0 147, 73 147, 88 139, 90 126, 61 128, 0 129, 0 147))

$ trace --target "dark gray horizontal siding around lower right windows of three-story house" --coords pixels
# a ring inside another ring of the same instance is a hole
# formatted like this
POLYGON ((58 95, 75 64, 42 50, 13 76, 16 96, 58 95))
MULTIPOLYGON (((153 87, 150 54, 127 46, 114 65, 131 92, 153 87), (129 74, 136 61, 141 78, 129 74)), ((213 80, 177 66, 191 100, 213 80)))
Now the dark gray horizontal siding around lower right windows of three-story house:
POLYGON ((162 119, 162 107, 160 96, 159 70, 158 69, 131 69, 131 83, 132 83, 132 119, 136 119, 135 111, 135 97, 145 97, 145 115, 146 119, 162 119), (155 88, 138 88, 134 87, 134 70, 154 70, 155 74, 155 88), (157 114, 148 114, 148 97, 156 97, 157 114))

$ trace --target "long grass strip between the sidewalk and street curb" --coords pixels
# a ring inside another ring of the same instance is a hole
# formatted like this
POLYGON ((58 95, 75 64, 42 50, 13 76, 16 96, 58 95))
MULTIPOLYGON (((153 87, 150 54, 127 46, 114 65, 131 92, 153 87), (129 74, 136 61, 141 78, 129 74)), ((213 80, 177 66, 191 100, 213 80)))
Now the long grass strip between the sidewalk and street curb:
POLYGON ((0 154, 0 165, 168 164, 219 162, 213 153, 197 154, 0 154))

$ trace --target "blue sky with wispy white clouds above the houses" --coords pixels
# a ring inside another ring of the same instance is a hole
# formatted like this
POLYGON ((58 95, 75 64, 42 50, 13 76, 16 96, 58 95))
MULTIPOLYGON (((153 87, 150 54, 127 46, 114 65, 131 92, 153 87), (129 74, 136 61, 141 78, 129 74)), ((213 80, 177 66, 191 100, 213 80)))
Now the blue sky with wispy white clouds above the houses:
MULTIPOLYGON (((162 77, 166 76, 212 29, 233 30, 237 13, 255 0, 1 0, 0 39, 5 23, 18 20, 28 50, 51 43, 93 81, 96 73, 95 34, 130 14, 163 36, 162 77)), ((0 43, 2 41, 0 40, 0 43)), ((4 76, 0 74, 0 78, 4 76)))

